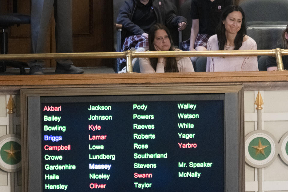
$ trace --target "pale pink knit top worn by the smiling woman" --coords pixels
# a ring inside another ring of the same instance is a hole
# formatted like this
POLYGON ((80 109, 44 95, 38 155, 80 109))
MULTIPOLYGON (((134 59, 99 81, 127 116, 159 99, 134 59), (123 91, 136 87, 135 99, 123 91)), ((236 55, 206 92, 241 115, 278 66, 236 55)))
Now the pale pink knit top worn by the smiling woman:
MULTIPOLYGON (((256 50, 256 42, 249 36, 247 37, 248 39, 242 43, 239 50, 256 50)), ((208 39, 207 50, 219 50, 217 35, 212 35, 208 39)), ((234 47, 225 46, 224 50, 234 50, 234 47)), ((207 57, 206 72, 217 71, 258 71, 257 57, 207 57)))

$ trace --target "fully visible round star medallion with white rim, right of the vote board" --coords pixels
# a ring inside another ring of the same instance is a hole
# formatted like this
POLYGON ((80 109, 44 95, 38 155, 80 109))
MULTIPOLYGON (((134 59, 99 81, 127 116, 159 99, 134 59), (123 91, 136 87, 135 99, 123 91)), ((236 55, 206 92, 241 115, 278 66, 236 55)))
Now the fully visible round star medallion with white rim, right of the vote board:
POLYGON ((252 131, 245 137, 245 161, 252 167, 267 167, 277 157, 276 139, 268 131, 252 131))

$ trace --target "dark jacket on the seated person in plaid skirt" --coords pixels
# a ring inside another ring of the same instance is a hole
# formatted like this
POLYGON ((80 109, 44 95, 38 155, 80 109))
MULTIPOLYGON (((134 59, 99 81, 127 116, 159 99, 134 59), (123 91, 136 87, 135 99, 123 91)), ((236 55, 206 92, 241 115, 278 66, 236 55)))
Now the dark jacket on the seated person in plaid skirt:
MULTIPOLYGON (((152 7, 155 10, 157 22, 164 24, 168 28, 177 27, 178 23, 185 22, 187 19, 182 16, 177 16, 177 9, 169 0, 152 0, 152 7)), ((117 16, 117 23, 123 25, 122 41, 126 38, 127 31, 134 35, 142 35, 144 31, 131 20, 136 9, 136 0, 125 1, 124 5, 120 8, 117 16)))

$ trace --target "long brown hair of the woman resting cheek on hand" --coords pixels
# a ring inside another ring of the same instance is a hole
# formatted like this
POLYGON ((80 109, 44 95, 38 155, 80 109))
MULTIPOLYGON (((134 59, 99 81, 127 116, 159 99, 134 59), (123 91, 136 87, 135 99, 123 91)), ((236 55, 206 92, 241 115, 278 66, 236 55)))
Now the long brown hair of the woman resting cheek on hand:
MULTIPOLYGON (((164 26, 160 23, 156 23, 149 30, 149 36, 148 36, 149 51, 156 51, 154 48, 154 38, 155 38, 155 32, 159 29, 163 29, 167 33, 169 40, 170 40, 170 43, 171 43, 169 51, 173 51, 173 41, 172 41, 170 32, 166 26, 164 26)), ((156 71, 158 58, 149 58, 149 59, 150 59, 150 62, 151 62, 153 69, 156 71)), ((166 67, 164 69, 164 72, 179 72, 175 57, 168 57, 167 58, 167 64, 166 64, 166 67)))

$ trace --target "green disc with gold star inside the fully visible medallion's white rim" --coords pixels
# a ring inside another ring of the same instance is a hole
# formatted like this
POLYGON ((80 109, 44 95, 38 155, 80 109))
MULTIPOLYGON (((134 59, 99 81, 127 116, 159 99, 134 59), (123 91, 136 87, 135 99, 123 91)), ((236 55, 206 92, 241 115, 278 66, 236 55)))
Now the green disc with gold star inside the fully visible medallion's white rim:
POLYGON ((256 137, 249 143, 248 152, 253 159, 264 160, 271 154, 271 143, 264 137, 256 137))

